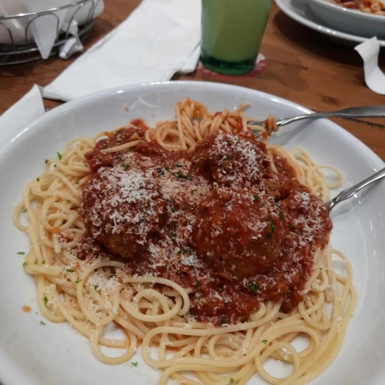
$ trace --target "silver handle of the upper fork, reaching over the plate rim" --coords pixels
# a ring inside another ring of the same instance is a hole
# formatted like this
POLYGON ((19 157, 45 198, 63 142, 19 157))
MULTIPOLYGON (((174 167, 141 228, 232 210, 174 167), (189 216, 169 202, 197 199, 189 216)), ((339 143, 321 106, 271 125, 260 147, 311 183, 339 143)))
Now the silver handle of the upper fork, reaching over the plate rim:
POLYGON ((300 115, 290 118, 277 119, 278 126, 285 126, 292 122, 300 121, 303 119, 318 119, 327 117, 341 117, 341 118, 380 118, 385 117, 385 105, 371 105, 367 107, 350 107, 343 110, 331 111, 331 112, 316 112, 314 114, 300 115))

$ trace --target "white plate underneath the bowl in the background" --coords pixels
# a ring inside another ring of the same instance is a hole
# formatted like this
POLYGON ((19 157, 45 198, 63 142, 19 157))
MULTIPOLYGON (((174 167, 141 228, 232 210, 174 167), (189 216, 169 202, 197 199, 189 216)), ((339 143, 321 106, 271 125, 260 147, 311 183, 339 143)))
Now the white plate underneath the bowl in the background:
MULTIPOLYGON (((306 0, 275 0, 275 2, 282 12, 286 13, 290 18, 342 44, 356 45, 367 40, 367 37, 358 33, 358 28, 356 29, 357 33, 353 35, 328 27, 316 15, 310 12, 306 0)), ((352 28, 354 29, 355 27, 352 28)), ((378 40, 378 43, 381 47, 385 47, 385 40, 378 40)))

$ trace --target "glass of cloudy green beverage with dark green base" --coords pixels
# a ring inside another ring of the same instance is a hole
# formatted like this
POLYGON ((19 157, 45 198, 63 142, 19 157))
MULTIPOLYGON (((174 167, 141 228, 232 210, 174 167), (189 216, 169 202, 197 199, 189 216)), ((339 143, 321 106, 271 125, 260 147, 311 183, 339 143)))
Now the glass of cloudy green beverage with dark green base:
POLYGON ((202 0, 202 64, 241 75, 254 67, 272 0, 202 0))

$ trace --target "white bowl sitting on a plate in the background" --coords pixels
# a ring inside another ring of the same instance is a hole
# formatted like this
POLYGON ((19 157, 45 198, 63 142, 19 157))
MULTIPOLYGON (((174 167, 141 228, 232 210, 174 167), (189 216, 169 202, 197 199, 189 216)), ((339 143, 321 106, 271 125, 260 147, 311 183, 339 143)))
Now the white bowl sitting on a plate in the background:
POLYGON ((325 0, 308 0, 311 12, 324 25, 364 37, 385 39, 385 16, 341 7, 325 0))

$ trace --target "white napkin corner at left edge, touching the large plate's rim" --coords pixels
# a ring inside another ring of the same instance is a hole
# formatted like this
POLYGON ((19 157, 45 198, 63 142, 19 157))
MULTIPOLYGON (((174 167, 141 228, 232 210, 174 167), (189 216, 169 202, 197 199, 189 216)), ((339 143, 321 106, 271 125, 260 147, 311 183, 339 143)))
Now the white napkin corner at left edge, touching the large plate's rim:
POLYGON ((0 116, 0 145, 44 112, 40 87, 35 84, 0 116))

